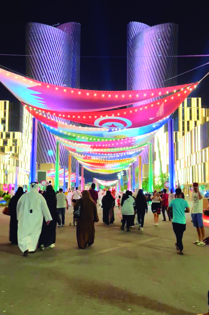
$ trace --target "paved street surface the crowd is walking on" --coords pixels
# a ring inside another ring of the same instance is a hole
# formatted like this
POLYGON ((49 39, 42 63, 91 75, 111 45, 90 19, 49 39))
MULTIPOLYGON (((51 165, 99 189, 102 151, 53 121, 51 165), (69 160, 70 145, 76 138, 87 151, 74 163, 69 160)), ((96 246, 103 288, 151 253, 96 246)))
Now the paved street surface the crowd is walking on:
POLYGON ((9 244, 9 217, 0 214, 0 314, 190 315, 207 310, 209 248, 192 243, 190 214, 180 256, 171 222, 153 226, 151 211, 144 231, 135 227, 130 233, 119 229, 117 215, 113 226, 104 226, 98 212, 92 247, 77 248, 70 209, 56 247, 28 257, 9 244))

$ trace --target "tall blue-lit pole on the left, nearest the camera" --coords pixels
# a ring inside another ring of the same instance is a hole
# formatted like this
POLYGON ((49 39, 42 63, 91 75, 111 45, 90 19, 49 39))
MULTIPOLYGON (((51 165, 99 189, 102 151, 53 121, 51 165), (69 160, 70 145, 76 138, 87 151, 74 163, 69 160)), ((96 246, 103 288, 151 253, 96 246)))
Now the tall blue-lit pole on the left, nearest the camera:
POLYGON ((36 157, 37 157, 37 128, 38 121, 36 118, 32 118, 32 140, 31 140, 31 152, 30 152, 30 176, 29 182, 36 181, 36 157))

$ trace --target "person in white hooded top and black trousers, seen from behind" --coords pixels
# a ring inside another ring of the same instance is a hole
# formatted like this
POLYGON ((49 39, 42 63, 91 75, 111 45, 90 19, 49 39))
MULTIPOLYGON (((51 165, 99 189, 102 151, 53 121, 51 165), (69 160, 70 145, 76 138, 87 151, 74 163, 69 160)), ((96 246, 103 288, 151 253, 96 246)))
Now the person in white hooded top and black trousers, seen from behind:
POLYGON ((135 200, 129 194, 130 192, 127 190, 125 196, 122 197, 121 200, 121 214, 123 216, 121 230, 124 230, 124 226, 126 224, 127 232, 130 232, 130 224, 134 220, 134 207, 135 200))

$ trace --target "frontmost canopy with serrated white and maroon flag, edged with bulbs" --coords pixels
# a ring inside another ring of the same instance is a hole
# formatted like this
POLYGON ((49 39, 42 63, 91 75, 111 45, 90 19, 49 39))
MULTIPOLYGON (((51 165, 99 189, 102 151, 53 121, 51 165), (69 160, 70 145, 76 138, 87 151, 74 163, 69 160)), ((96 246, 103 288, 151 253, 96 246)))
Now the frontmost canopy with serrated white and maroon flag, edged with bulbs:
POLYGON ((101 111, 127 106, 188 86, 140 91, 90 91, 43 83, 1 68, 0 81, 21 102, 47 111, 59 108, 63 112, 101 111))

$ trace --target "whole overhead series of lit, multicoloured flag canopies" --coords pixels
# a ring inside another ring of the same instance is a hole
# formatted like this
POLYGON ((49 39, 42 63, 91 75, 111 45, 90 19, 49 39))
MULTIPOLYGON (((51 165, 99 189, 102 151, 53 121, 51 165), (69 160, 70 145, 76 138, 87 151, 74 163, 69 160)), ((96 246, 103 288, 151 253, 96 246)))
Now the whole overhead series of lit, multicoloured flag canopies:
POLYGON ((4 69, 0 82, 85 169, 103 174, 130 167, 198 84, 92 91, 43 83, 4 69))

